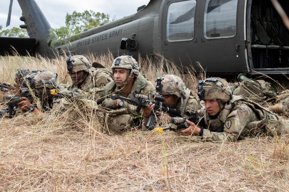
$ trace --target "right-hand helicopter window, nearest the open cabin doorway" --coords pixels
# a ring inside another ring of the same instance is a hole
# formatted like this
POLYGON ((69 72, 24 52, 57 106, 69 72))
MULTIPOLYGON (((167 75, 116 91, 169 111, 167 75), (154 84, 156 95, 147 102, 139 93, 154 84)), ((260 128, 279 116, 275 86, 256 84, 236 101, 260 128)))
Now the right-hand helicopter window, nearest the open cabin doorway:
POLYGON ((238 0, 207 0, 204 35, 206 39, 234 37, 236 35, 238 0))

